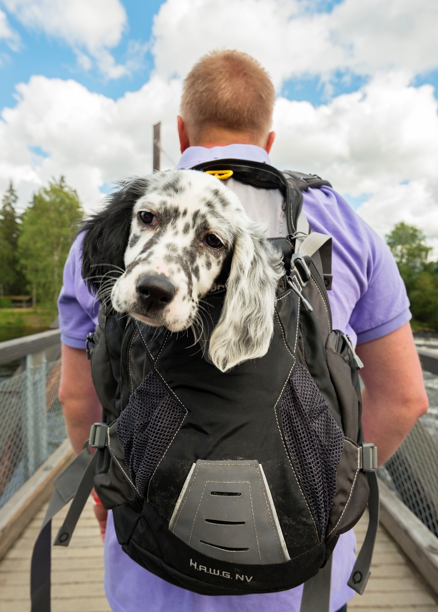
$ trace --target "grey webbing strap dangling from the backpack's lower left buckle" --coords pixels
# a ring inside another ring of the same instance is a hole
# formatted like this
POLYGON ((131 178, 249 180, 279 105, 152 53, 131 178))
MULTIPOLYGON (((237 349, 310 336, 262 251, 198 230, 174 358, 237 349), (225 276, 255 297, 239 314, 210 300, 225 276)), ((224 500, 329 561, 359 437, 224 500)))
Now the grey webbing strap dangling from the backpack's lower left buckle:
MULTIPOLYGON (((88 441, 87 441, 88 442, 88 441)), ((50 570, 51 570, 51 524, 52 518, 68 504, 78 489, 87 490, 82 494, 79 503, 71 504, 64 525, 56 538, 60 544, 70 543, 71 532, 81 515, 90 491, 93 488, 96 455, 92 455, 87 446, 70 465, 54 479, 54 490, 44 518, 41 531, 37 537, 31 562, 31 612, 50 612, 50 570), (81 505, 82 504, 82 505, 81 505), (80 507, 79 507, 80 506, 80 507), (67 528, 66 528, 67 527, 67 528), (64 533, 68 537, 63 538, 64 533)))

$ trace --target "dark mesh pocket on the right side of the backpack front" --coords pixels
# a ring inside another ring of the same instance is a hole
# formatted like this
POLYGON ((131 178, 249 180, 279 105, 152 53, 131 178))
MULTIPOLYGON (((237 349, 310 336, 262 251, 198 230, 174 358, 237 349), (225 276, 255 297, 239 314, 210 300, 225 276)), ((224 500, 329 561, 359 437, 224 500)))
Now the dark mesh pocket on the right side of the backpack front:
POLYGON ((344 436, 304 365, 296 363, 280 405, 288 450, 324 538, 344 436))

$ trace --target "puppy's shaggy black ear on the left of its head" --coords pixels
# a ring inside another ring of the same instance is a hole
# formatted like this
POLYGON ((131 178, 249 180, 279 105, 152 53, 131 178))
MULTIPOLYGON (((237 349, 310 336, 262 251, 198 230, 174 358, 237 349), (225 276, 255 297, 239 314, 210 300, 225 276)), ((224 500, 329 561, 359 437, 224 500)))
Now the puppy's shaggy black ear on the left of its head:
POLYGON ((119 183, 120 189, 106 198, 106 206, 84 220, 82 278, 93 294, 102 282, 118 278, 125 270, 124 255, 130 237, 133 206, 148 188, 148 179, 134 178, 119 183))

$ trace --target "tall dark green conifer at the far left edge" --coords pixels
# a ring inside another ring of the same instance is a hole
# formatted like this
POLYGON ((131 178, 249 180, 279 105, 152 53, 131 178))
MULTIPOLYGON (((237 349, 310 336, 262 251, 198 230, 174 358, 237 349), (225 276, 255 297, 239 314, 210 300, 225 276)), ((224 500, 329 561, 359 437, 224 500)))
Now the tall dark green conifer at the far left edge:
POLYGON ((0 293, 20 294, 25 280, 18 264, 19 217, 16 213, 18 196, 9 183, 0 209, 0 293))

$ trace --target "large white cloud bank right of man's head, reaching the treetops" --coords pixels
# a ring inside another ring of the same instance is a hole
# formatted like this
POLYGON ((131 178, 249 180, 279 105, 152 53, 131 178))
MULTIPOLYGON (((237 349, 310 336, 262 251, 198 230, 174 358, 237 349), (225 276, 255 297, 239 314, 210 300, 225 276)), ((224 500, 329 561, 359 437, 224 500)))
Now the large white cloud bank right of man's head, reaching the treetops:
POLYGON ((358 212, 382 236, 403 220, 434 242, 437 108, 432 86, 409 86, 401 73, 377 75, 360 91, 318 108, 279 99, 272 163, 315 172, 341 193, 370 194, 358 212))

